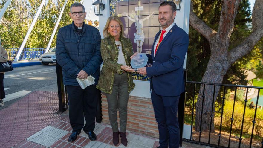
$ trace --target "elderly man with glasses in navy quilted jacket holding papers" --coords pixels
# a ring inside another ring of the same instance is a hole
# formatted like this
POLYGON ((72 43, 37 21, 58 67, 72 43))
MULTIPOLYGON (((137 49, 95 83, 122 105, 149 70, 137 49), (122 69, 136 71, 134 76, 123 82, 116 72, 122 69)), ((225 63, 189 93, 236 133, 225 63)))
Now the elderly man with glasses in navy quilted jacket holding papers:
POLYGON ((56 41, 56 59, 63 68, 63 82, 70 103, 69 119, 73 130, 68 141, 75 141, 82 128, 90 140, 96 140, 93 130, 100 95, 96 85, 102 63, 101 37, 97 28, 85 24, 86 12, 82 4, 72 4, 69 16, 72 24, 59 29, 56 41), (89 75, 95 78, 95 84, 81 89, 76 78, 85 79, 89 75))

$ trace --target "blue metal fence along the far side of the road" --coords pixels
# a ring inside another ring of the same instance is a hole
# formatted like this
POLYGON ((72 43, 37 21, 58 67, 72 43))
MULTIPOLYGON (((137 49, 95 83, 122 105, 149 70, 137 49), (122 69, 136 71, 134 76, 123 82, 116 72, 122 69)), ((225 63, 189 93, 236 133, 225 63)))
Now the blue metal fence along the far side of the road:
MULTIPOLYGON (((19 48, 4 48, 8 53, 8 60, 13 61, 19 48)), ((51 49, 51 48, 50 48, 51 49)), ((19 60, 39 59, 45 53, 46 48, 24 48, 19 60)))

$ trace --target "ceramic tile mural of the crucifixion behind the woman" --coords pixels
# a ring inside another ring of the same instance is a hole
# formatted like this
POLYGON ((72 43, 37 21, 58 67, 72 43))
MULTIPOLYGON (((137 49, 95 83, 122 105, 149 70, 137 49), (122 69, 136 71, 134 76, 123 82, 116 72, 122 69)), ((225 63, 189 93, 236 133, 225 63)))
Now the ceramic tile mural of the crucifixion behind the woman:
MULTIPOLYGON (((132 40, 134 52, 151 54, 156 33, 160 30, 158 8, 166 0, 110 0, 110 16, 117 15, 124 25, 124 36, 132 40)), ((180 4, 181 0, 173 0, 180 4)), ((149 80, 140 74, 134 80, 149 80)))

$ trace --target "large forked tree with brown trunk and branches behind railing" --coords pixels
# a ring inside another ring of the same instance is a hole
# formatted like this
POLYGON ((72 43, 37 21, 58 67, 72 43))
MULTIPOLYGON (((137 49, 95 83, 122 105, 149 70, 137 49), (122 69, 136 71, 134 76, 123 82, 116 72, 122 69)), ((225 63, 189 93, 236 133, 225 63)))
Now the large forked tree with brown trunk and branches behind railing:
MULTIPOLYGON (((207 40, 210 47, 209 60, 207 64, 205 61, 203 63, 203 65, 206 65, 206 70, 202 77, 202 82, 222 83, 224 76, 227 74, 227 71, 231 68, 231 66, 236 61, 249 54, 256 43, 263 36, 263 9, 261 9, 263 6, 263 0, 256 0, 252 14, 253 30, 250 31, 251 33, 248 36, 244 36, 246 37, 245 39, 243 39, 242 36, 239 36, 237 40, 239 40, 240 43, 231 44, 231 35, 236 29, 234 27, 238 27, 235 23, 238 21, 238 17, 236 16, 238 12, 240 12, 238 11, 239 7, 241 4, 245 4, 246 2, 247 1, 245 0, 242 2, 240 0, 222 0, 220 4, 220 1, 201 2, 199 0, 192 0, 190 25, 207 40), (210 2, 212 5, 205 5, 206 2, 210 2), (214 20, 212 19, 218 24, 210 25, 210 22, 206 22, 207 20, 198 18, 200 11, 195 13, 193 5, 204 5, 207 7, 206 9, 212 8, 214 11, 210 13, 216 14, 217 11, 220 11, 220 15, 215 15, 214 20), (230 44, 233 46, 230 46, 230 44)), ((249 32, 249 30, 247 31, 249 32)), ((202 89, 203 86, 201 86, 200 90, 202 89)), ((215 90, 216 96, 218 91, 219 87, 215 90)), ((213 86, 206 86, 205 89, 202 127, 199 129, 201 123, 201 95, 201 91, 199 91, 198 102, 196 103, 196 131, 207 130, 210 128, 213 86)), ((214 115, 214 112, 212 115, 214 115)), ((212 122, 212 130, 214 130, 213 125, 214 123, 212 122)))

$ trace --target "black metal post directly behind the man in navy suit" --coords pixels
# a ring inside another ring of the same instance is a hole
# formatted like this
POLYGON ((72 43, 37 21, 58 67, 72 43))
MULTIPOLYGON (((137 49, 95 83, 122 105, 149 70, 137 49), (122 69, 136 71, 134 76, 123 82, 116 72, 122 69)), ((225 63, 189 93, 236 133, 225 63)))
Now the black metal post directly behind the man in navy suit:
MULTIPOLYGON (((186 88, 186 80, 187 80, 187 70, 184 69, 184 83, 186 88)), ((179 103, 178 103, 178 122, 179 122, 179 128, 180 128, 180 147, 182 146, 183 141, 183 127, 184 127, 184 106, 185 106, 185 93, 181 93, 179 103)))

